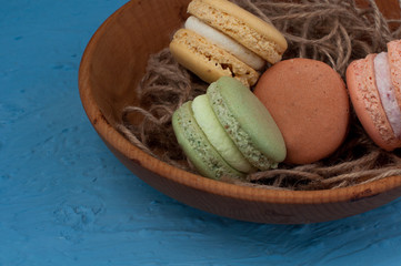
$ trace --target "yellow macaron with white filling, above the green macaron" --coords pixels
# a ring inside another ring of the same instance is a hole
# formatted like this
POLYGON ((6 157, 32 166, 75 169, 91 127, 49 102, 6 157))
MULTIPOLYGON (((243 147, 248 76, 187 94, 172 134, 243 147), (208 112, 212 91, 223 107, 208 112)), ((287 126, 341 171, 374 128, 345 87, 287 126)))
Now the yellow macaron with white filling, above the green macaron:
POLYGON ((284 37, 270 23, 227 0, 193 0, 184 28, 173 35, 174 59, 203 81, 232 76, 250 88, 265 62, 287 50, 284 37))

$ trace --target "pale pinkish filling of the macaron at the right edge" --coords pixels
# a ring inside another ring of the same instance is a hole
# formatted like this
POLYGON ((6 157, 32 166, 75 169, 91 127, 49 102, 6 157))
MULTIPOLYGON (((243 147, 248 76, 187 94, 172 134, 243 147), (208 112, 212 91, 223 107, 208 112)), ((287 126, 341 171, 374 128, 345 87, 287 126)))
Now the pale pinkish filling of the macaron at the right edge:
POLYGON ((388 53, 379 53, 373 60, 373 66, 380 101, 394 135, 401 140, 401 109, 397 102, 394 88, 391 82, 388 53))

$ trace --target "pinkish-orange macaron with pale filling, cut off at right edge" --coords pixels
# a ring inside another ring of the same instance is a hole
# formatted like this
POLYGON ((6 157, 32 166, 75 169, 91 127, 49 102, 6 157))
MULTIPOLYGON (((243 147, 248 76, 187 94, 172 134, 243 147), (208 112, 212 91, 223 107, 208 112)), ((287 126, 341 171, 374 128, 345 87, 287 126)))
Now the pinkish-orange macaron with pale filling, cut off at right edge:
POLYGON ((363 129, 380 147, 401 147, 401 40, 388 52, 368 54, 347 69, 352 105, 363 129))

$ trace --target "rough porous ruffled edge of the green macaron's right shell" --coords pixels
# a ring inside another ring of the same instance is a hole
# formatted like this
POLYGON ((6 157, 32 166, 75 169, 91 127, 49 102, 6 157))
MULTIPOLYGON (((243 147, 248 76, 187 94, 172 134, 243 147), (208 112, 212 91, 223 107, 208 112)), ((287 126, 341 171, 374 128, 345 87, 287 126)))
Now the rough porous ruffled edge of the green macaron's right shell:
POLYGON ((210 84, 207 95, 214 110, 217 117, 225 132, 237 144, 243 156, 257 168, 265 171, 269 168, 277 168, 278 163, 269 158, 265 154, 254 146, 249 134, 241 127, 237 119, 230 113, 225 105, 224 99, 221 96, 218 85, 210 84))

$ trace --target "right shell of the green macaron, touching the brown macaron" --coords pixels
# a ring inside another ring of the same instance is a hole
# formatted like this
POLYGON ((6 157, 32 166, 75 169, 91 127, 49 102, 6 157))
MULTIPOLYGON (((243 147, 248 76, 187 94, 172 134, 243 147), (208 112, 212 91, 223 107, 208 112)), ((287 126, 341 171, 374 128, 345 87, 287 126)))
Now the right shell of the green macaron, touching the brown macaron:
POLYGON ((250 163, 267 170, 275 167, 277 163, 285 158, 285 144, 280 130, 269 111, 250 90, 240 82, 223 76, 209 86, 207 94, 220 123, 250 163), (234 120, 234 123, 228 117, 234 120), (249 147, 257 150, 254 154, 247 152, 249 147), (258 152, 263 154, 269 163, 262 158, 259 162, 258 152))

